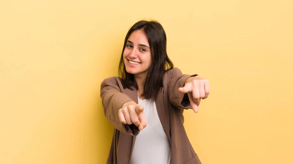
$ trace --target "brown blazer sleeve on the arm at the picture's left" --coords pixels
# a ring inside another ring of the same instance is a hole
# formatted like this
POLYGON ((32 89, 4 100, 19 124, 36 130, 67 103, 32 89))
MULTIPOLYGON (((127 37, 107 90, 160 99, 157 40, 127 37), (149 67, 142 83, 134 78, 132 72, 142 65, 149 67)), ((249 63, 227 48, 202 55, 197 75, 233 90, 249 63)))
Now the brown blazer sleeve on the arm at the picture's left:
POLYGON ((105 117, 119 131, 136 136, 139 129, 134 124, 123 124, 119 120, 118 111, 128 101, 133 101, 124 93, 124 88, 118 77, 110 77, 101 83, 101 98, 105 117))

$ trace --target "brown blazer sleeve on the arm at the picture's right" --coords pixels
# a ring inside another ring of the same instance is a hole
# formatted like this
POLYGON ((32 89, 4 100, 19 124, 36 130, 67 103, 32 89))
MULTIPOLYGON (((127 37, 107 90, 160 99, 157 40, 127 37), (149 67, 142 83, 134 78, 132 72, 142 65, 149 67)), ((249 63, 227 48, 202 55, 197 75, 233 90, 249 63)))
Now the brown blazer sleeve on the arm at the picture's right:
POLYGON ((172 71, 168 85, 168 96, 170 102, 179 109, 191 109, 188 95, 180 93, 178 89, 184 87, 185 81, 192 76, 197 76, 197 74, 182 74, 178 68, 174 68, 172 71))

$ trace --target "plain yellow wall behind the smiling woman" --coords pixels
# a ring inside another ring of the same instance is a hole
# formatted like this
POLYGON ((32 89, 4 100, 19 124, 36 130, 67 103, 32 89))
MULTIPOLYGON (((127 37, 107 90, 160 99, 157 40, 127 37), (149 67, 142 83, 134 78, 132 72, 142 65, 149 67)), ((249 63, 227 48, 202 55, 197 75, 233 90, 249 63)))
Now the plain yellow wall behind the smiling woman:
POLYGON ((141 19, 210 82, 185 113, 203 164, 293 164, 292 0, 2 0, 0 164, 105 164, 100 84, 141 19))

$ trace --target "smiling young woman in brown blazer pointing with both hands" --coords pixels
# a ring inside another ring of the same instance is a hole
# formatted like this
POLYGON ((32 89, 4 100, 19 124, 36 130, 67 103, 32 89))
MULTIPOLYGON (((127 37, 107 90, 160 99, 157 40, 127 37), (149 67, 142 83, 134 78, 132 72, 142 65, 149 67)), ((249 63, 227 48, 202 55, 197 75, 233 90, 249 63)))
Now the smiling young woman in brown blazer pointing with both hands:
POLYGON ((139 21, 126 34, 119 76, 105 79, 105 117, 115 127, 107 164, 201 164, 183 126, 209 82, 173 68, 162 25, 139 21))

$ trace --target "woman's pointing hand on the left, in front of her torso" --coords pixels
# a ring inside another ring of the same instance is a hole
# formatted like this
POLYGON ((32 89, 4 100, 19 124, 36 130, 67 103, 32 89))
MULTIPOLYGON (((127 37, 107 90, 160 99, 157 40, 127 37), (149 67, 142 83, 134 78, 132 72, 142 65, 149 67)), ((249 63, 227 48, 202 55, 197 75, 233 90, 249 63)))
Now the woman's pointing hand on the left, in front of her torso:
POLYGON ((118 114, 120 121, 124 124, 131 125, 133 123, 139 130, 143 130, 146 127, 144 107, 134 101, 124 103, 118 114))

